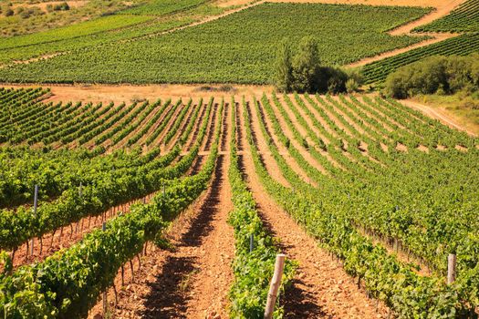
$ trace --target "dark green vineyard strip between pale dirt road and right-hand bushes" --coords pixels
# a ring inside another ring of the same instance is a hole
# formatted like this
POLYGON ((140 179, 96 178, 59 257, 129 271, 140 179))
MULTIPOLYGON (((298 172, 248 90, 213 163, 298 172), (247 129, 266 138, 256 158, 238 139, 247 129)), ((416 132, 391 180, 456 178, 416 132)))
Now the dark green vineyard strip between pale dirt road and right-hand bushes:
POLYGON ((398 67, 406 66, 424 57, 466 56, 474 52, 479 52, 479 34, 464 34, 370 63, 362 67, 362 73, 366 84, 380 83, 398 67))

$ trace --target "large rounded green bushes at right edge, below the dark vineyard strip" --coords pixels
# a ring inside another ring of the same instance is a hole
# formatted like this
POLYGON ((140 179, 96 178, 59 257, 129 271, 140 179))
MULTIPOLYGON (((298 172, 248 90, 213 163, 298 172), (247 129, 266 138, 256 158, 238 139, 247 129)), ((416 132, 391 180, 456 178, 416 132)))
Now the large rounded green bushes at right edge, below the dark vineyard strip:
POLYGON ((393 98, 418 94, 454 94, 479 88, 479 55, 428 57, 400 67, 385 82, 384 93, 393 98))

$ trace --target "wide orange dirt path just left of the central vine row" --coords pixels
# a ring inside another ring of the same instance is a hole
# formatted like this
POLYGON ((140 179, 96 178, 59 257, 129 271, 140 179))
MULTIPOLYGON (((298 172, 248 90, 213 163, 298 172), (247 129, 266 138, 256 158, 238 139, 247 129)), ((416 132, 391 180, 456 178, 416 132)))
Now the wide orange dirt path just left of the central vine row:
POLYGON ((145 296, 142 317, 226 317, 234 257, 233 229, 226 222, 233 209, 227 158, 219 156, 205 201, 190 227, 175 236, 175 252, 161 266, 161 274, 145 296))

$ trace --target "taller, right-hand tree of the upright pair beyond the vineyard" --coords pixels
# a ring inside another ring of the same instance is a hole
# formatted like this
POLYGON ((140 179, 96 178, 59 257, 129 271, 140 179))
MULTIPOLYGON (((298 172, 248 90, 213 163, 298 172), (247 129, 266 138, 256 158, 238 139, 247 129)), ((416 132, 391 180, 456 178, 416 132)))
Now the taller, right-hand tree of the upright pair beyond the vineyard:
POLYGON ((318 43, 313 36, 305 36, 299 42, 299 50, 293 58, 293 90, 298 92, 318 90, 319 67, 318 43))

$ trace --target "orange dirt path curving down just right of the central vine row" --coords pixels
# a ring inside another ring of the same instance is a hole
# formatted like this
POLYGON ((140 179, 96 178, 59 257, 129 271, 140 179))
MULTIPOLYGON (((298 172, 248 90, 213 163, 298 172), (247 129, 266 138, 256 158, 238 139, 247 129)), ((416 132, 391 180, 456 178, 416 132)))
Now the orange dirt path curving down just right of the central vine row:
MULTIPOLYGON (((241 126, 245 136, 245 126, 241 126)), ((245 153, 246 142, 240 142, 245 153)), ((287 258, 299 263, 293 287, 281 298, 286 318, 383 318, 387 309, 369 299, 353 279, 332 260, 328 252, 318 248, 318 242, 293 221, 263 189, 250 156, 240 157, 248 186, 266 227, 281 239, 287 258)), ((275 175, 275 173, 271 173, 275 175)))

